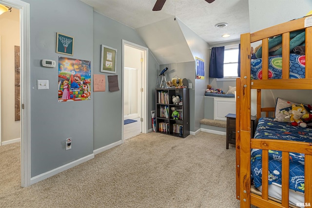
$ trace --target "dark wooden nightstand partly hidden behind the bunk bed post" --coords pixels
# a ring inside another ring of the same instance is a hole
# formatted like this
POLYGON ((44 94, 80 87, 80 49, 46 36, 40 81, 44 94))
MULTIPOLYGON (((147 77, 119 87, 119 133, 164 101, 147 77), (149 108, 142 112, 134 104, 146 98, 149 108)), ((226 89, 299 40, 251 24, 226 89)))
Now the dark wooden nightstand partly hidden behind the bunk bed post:
MULTIPOLYGON (((234 144, 236 142, 235 132, 236 132, 236 114, 229 113, 226 116, 226 149, 229 149, 229 144, 234 144)), ((257 117, 251 116, 251 132, 252 137, 254 137, 254 131, 256 128, 257 117)))

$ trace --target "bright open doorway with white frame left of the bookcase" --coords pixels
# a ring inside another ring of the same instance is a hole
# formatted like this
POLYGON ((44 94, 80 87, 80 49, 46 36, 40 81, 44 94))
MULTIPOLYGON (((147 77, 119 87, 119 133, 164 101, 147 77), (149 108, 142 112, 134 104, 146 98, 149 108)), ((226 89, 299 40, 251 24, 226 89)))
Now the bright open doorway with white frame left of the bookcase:
POLYGON ((147 132, 148 49, 126 40, 123 40, 122 47, 122 140, 124 141, 141 132, 147 132))

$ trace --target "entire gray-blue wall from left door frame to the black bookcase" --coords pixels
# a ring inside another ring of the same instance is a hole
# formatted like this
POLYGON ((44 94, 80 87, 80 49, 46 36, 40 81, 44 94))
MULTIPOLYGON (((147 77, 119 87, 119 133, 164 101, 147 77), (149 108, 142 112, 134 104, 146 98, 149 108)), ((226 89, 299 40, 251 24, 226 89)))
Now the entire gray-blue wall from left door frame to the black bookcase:
MULTIPOLYGON (((121 89, 122 39, 146 45, 136 31, 94 12, 79 0, 24 1, 30 3, 31 177, 34 177, 120 141, 123 128, 121 90, 111 93, 106 84, 106 92, 92 93, 91 100, 59 103, 58 69, 41 67, 40 60, 58 61, 59 56, 91 60, 93 77, 100 74, 100 45, 111 46, 117 49, 121 89), (74 56, 55 52, 57 32, 75 38, 74 56), (49 90, 37 90, 38 79, 49 80, 49 90), (73 138, 70 151, 65 151, 67 137, 73 138)), ((148 67, 150 112, 155 108, 154 89, 159 69, 151 53, 148 67)), ((148 128, 152 128, 150 117, 148 128)))

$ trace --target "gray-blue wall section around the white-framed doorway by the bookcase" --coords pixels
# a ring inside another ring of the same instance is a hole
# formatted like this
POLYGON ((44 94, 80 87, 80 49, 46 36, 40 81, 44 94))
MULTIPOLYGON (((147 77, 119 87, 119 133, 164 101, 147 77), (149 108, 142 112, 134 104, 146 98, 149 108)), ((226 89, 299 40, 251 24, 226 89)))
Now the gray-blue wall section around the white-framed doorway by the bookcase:
MULTIPOLYGON (((114 74, 100 73, 100 45, 104 44, 117 49, 117 74, 119 91, 109 92, 106 81, 106 92, 94 93, 94 150, 110 145, 121 139, 121 82, 122 82, 122 39, 147 47, 137 32, 124 24, 94 12, 93 60, 94 74, 111 76, 114 74)), ((155 58, 149 54, 149 93, 148 93, 148 129, 152 128, 150 112, 155 106, 156 74, 159 68, 155 58), (153 78, 155 77, 155 78, 153 78)), ((107 80, 107 79, 106 79, 107 80)))

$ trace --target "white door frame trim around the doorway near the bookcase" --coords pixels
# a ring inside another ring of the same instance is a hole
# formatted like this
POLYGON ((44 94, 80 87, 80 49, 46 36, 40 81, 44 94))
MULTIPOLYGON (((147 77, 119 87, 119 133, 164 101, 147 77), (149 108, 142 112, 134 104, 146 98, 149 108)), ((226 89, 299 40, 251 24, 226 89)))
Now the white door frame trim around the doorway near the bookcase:
MULTIPOLYGON (((129 45, 129 46, 132 46, 134 48, 137 48, 139 50, 142 50, 144 51, 144 55, 143 55, 143 64, 142 64, 142 72, 144 72, 144 77, 143 77, 143 93, 142 93, 142 97, 143 97, 143 104, 141 105, 142 106, 142 113, 141 113, 141 117, 143 118, 143 122, 142 122, 142 128, 141 128, 141 131, 142 133, 147 133, 148 130, 148 48, 144 47, 144 46, 141 46, 141 45, 138 45, 136 43, 133 43, 133 42, 130 42, 130 41, 127 41, 127 40, 124 40, 122 39, 122 81, 121 81, 121 89, 124 88, 124 46, 125 45, 129 45)), ((123 127, 123 122, 124 122, 124 105, 123 105, 123 102, 124 102, 124 92, 123 90, 121 91, 121 116, 122 116, 122 119, 121 119, 121 122, 122 122, 122 127, 123 127)), ((121 128, 121 138, 122 138, 122 143, 124 142, 124 136, 123 136, 123 128, 121 128)))

